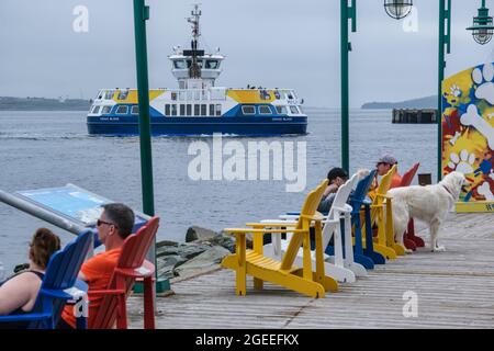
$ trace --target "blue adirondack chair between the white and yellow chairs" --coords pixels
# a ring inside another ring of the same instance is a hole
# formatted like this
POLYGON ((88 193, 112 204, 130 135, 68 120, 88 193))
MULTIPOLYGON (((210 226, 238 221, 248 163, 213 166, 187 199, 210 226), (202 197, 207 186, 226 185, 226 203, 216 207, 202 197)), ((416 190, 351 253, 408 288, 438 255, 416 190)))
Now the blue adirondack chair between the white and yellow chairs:
POLYGON ((351 212, 351 225, 355 227, 353 260, 362 264, 366 269, 373 269, 374 264, 384 264, 386 262, 385 258, 373 249, 370 212, 372 202, 367 199, 367 193, 369 192, 369 188, 371 186, 374 177, 375 170, 372 170, 369 176, 359 181, 355 192, 350 195, 350 205, 353 208, 351 212), (363 249, 362 245, 362 229, 360 222, 360 210, 362 206, 364 207, 366 220, 366 249, 363 249))

